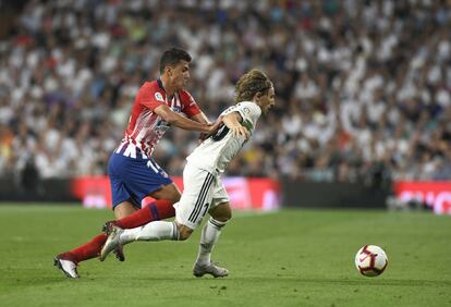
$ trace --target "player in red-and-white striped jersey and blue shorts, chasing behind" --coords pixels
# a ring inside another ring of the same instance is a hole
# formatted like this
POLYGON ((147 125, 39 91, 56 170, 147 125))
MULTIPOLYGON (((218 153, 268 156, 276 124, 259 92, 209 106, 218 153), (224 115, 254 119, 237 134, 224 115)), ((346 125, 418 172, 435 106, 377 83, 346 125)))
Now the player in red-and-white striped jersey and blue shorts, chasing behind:
MULTIPOLYGON (((122 219, 118 223, 121 226, 135 228, 175 214, 172 205, 179 201, 181 193, 151 158, 170 126, 207 135, 219 126, 219 122, 208 122, 190 93, 184 90, 190 81, 190 62, 191 56, 182 49, 172 48, 163 52, 160 78, 146 82, 139 88, 124 138, 109 159, 112 209, 115 218, 122 219), (146 196, 156 200, 141 209, 146 196)), ((88 243, 58 255, 54 266, 68 278, 80 278, 78 263, 99 256, 106 240, 101 233, 88 243)), ((122 248, 118 248, 115 254, 119 260, 124 260, 122 248)))

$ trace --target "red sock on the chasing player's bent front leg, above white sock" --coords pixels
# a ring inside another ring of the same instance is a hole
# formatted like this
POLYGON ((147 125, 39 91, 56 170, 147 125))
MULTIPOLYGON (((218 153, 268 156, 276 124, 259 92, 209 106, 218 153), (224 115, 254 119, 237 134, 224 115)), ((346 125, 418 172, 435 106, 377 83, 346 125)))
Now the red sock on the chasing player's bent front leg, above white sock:
POLYGON ((166 199, 155 200, 147 207, 137 210, 133 214, 115 221, 121 229, 134 229, 145 225, 151 221, 159 221, 175 216, 172 202, 166 199))

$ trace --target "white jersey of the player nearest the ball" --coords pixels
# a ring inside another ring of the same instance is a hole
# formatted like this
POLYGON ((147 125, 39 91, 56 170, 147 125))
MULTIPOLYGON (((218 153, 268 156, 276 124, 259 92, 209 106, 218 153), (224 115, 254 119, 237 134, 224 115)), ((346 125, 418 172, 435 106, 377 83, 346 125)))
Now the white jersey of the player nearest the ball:
MULTIPOLYGON (((241 124, 245 126, 248 130, 249 135, 252 135, 257 120, 261 114, 260 107, 251 101, 243 101, 223 111, 221 116, 232 112, 240 113, 243 119, 241 124)), ((215 135, 197 146, 186 160, 199 169, 222 173, 245 142, 246 139, 243 136, 233 137, 232 132, 223 125, 215 135)))

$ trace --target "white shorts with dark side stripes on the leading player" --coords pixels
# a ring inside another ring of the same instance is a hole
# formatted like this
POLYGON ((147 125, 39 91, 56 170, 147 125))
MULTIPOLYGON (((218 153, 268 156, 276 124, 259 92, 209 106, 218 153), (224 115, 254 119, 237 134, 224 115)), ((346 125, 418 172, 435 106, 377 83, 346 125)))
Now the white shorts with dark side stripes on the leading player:
POLYGON ((183 194, 174 204, 175 221, 196 229, 209 209, 229 202, 219 174, 198 169, 190 162, 183 170, 183 194))

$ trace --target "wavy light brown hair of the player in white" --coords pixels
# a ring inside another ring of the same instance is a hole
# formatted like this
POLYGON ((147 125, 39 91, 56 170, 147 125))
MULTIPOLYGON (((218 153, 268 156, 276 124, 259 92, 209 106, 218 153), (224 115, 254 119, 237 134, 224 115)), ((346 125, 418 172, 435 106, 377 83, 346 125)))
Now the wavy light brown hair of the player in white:
POLYGON ((240 77, 235 85, 235 102, 252 101, 257 93, 268 94, 272 82, 259 70, 252 70, 240 77))

